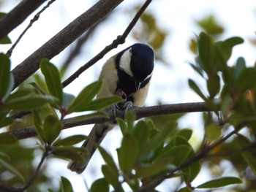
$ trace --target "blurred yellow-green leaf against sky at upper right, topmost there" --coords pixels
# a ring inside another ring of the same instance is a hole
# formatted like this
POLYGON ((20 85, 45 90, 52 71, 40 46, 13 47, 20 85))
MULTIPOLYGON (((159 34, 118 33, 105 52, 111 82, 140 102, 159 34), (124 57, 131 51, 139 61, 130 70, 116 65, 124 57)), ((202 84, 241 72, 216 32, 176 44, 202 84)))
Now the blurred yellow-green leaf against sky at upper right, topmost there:
POLYGON ((222 34, 224 28, 217 23, 217 20, 214 18, 214 15, 209 15, 203 20, 198 20, 197 25, 203 28, 208 34, 222 34))

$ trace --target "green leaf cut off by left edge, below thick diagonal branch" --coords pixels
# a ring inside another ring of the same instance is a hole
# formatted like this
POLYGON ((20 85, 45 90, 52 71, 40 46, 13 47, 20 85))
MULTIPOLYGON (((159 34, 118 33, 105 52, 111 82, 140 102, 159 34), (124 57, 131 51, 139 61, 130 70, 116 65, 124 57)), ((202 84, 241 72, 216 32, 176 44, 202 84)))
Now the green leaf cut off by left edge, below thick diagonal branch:
POLYGON ((5 99, 12 91, 13 82, 10 69, 10 59, 4 53, 0 53, 0 99, 5 99))

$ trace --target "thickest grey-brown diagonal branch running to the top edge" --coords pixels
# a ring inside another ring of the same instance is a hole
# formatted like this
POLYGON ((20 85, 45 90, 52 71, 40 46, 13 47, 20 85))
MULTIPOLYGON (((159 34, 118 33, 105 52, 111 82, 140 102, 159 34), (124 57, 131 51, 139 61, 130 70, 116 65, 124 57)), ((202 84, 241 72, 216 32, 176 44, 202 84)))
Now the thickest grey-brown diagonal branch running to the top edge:
POLYGON ((59 31, 59 33, 46 42, 45 45, 39 47, 38 50, 12 70, 15 79, 14 88, 17 88, 21 82, 39 69, 39 62, 42 58, 51 59, 61 53, 61 51, 74 42, 75 39, 80 37, 83 32, 87 31, 91 26, 94 26, 99 20, 102 20, 102 18, 105 18, 108 13, 115 9, 118 4, 121 4, 122 1, 123 0, 98 1, 93 7, 59 31))

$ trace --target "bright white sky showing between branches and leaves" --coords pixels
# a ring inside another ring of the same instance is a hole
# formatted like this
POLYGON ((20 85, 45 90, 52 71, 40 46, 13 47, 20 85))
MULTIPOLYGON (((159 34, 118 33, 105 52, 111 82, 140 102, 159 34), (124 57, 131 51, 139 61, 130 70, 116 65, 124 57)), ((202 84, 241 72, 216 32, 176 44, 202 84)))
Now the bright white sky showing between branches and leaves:
MULTIPOLYGON (((2 0, 0 0, 1 3, 2 0)), ((12 9, 14 4, 18 4, 17 0, 7 0, 1 4, 0 11, 8 12, 12 9)), ((25 34, 18 46, 12 53, 12 68, 20 64, 27 56, 33 53, 38 47, 43 45, 48 39, 58 33, 61 28, 67 26, 73 19, 77 18, 86 9, 89 9, 95 1, 83 0, 56 0, 50 8, 42 13, 39 20, 25 34)), ((128 13, 129 9, 135 5, 142 4, 143 1, 125 0, 117 9, 115 15, 112 15, 112 20, 108 20, 102 28, 99 28, 97 34, 91 39, 91 45, 83 47, 83 55, 75 59, 75 64, 70 70, 70 74, 75 72, 79 66, 86 63, 89 58, 98 53, 105 45, 110 44, 117 35, 121 34, 127 27, 127 23, 132 19, 128 13)), ((181 102, 201 101, 187 85, 188 78, 198 80, 197 74, 190 68, 187 61, 193 61, 194 55, 189 52, 189 39, 199 34, 201 29, 195 24, 195 20, 200 20, 203 16, 213 14, 216 16, 222 26, 225 26, 225 34, 223 39, 233 36, 244 38, 245 43, 235 47, 233 57, 230 59, 230 65, 236 61, 238 56, 243 56, 246 59, 247 65, 255 64, 255 47, 249 43, 249 39, 255 39, 256 28, 256 3, 255 0, 247 1, 232 1, 232 0, 154 0, 147 9, 152 12, 157 18, 157 24, 160 28, 169 33, 167 41, 164 45, 164 57, 167 65, 157 63, 155 66, 154 76, 151 81, 151 88, 148 93, 148 100, 146 105, 156 104, 157 101, 162 101, 164 104, 174 104, 181 102), (194 34, 195 33, 195 34, 194 34)), ((10 34, 12 42, 18 38, 18 35, 29 24, 29 20, 34 17, 32 14, 21 26, 18 26, 10 34)), ((101 61, 87 70, 83 75, 75 80, 71 85, 65 88, 66 92, 77 94, 82 88, 90 82, 97 80, 102 64, 114 53, 124 49, 134 43, 131 38, 127 39, 124 45, 118 46, 116 50, 112 50, 101 61)), ((1 45, 0 52, 6 52, 10 45, 1 45)), ((52 59, 53 64, 61 65, 64 61, 67 51, 64 51, 52 59)), ((203 82, 203 81, 202 81, 203 82)), ((181 120, 181 128, 194 128, 195 134, 193 137, 203 136, 203 126, 200 123, 200 114, 193 113, 187 115, 181 120)), ((72 131, 64 131, 63 135, 74 133, 87 134, 89 132, 88 126, 72 128, 72 131), (86 131, 85 131, 86 129, 86 131)), ((102 146, 116 155, 116 148, 120 144, 120 132, 118 128, 110 131, 108 137, 102 142, 102 146)), ((34 145, 34 144, 33 144, 34 145)), ((83 180, 86 180, 88 185, 91 181, 100 177, 101 171, 98 164, 102 164, 102 160, 98 153, 94 154, 91 160, 94 164, 89 164, 86 173, 78 175, 69 172, 66 169, 67 161, 53 161, 54 172, 49 174, 56 175, 59 180, 59 175, 68 177, 72 183, 78 181, 73 187, 75 191, 82 191, 84 187, 83 180), (58 170, 58 171, 57 171, 58 170), (82 185, 78 185, 82 183, 82 185)), ((224 166, 225 162, 224 162, 224 166)), ((203 174, 204 173, 203 171, 203 174)), ((200 177, 200 180, 195 180, 194 185, 202 183, 206 180, 200 177)), ((57 181, 56 182, 59 182, 57 181)), ((159 188, 161 191, 172 191, 172 183, 165 182, 165 189, 159 188)))

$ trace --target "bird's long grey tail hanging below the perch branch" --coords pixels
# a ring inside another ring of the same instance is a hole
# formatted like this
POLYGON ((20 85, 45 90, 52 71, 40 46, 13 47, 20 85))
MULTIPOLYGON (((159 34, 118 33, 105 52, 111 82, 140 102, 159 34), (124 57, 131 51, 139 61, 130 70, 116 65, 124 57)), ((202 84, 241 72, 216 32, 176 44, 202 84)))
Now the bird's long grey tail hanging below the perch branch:
POLYGON ((87 153, 82 154, 84 161, 70 161, 67 165, 67 168, 70 169, 72 172, 77 172, 81 174, 86 166, 89 164, 91 156, 94 154, 97 146, 102 142, 107 132, 113 128, 113 125, 102 123, 102 124, 95 124, 94 127, 91 129, 89 134, 89 139, 86 140, 82 147, 86 147, 87 153))

